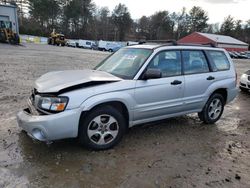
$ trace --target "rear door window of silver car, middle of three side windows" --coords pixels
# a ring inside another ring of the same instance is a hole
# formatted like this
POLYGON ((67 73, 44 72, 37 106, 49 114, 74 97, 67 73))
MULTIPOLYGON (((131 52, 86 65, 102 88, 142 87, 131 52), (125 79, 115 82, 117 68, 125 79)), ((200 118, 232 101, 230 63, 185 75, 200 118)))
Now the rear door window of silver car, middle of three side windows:
POLYGON ((206 57, 202 51, 182 51, 184 74, 198 74, 209 72, 206 57))

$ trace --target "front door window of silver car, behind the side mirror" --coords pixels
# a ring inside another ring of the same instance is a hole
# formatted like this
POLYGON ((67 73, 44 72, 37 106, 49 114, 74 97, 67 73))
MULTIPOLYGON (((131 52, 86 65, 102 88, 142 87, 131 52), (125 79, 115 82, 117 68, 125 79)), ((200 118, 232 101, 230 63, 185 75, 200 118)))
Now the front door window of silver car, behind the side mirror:
POLYGON ((148 68, 160 69, 162 77, 181 75, 180 51, 163 51, 149 63, 148 68))

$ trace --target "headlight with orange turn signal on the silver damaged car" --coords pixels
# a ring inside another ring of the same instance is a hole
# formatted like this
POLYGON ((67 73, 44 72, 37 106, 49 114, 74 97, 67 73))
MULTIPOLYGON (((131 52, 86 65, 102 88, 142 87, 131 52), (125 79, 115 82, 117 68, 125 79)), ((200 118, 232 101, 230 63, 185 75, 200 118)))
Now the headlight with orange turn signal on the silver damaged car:
POLYGON ((41 97, 38 107, 51 112, 62 112, 65 110, 69 99, 67 97, 41 97))

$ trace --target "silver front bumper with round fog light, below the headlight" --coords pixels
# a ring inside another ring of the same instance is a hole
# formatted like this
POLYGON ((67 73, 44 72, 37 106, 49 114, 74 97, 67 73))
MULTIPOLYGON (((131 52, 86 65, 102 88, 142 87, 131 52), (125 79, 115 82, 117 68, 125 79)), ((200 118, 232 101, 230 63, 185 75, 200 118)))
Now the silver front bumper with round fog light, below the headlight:
POLYGON ((52 141, 77 137, 80 116, 80 109, 51 115, 32 115, 27 108, 17 114, 17 122, 32 138, 52 141))

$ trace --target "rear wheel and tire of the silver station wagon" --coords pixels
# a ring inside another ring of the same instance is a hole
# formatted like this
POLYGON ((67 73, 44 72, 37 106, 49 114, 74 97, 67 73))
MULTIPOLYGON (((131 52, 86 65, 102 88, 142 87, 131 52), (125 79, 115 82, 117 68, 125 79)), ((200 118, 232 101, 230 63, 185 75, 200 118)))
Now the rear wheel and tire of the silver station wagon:
POLYGON ((225 100, 221 94, 213 94, 207 101, 203 110, 198 113, 201 121, 206 124, 217 122, 224 111, 225 100))

